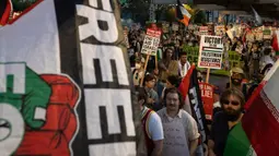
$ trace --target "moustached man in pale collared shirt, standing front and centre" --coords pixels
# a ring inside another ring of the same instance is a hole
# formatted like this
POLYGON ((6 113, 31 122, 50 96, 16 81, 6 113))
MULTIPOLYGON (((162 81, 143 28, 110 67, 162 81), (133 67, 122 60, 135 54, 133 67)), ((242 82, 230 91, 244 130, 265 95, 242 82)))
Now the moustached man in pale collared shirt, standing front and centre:
POLYGON ((165 108, 158 111, 164 130, 162 156, 195 156, 200 134, 195 119, 182 109, 181 93, 176 88, 167 88, 164 104, 165 108))

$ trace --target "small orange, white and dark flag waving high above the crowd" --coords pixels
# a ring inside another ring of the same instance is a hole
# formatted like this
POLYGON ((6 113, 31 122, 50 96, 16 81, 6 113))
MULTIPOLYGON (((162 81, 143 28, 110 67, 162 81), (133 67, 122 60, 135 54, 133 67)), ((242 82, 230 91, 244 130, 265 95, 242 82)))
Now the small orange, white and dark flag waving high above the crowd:
POLYGON ((177 0, 176 19, 184 25, 188 26, 190 17, 191 17, 190 13, 184 8, 182 2, 177 0))

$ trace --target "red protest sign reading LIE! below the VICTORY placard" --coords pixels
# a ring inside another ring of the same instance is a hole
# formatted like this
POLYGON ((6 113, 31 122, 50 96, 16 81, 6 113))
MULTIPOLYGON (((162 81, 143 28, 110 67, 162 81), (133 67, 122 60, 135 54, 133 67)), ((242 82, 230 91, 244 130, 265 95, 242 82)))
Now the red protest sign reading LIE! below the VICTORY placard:
POLYGON ((199 83, 199 88, 201 92, 201 99, 204 101, 204 109, 207 120, 212 120, 213 113, 213 85, 208 83, 199 83))

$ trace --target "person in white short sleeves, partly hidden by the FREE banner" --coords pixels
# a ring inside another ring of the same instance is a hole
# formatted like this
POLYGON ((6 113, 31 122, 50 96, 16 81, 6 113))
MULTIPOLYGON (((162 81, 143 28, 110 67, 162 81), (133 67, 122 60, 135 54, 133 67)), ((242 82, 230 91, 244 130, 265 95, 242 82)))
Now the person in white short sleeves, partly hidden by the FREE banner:
POLYGON ((141 107, 141 129, 137 156, 161 156, 163 149, 164 132, 161 118, 150 108, 146 107, 148 95, 144 88, 139 88, 138 100, 141 107))

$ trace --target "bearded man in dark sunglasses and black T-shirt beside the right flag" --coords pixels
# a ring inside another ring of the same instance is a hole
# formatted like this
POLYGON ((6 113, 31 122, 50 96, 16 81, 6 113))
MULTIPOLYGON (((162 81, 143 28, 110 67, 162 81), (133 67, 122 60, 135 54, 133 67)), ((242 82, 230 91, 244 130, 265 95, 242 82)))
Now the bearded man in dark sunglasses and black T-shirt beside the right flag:
POLYGON ((208 141, 209 156, 223 156, 226 137, 243 116, 244 95, 237 88, 226 89, 220 98, 222 111, 214 116, 208 141))

